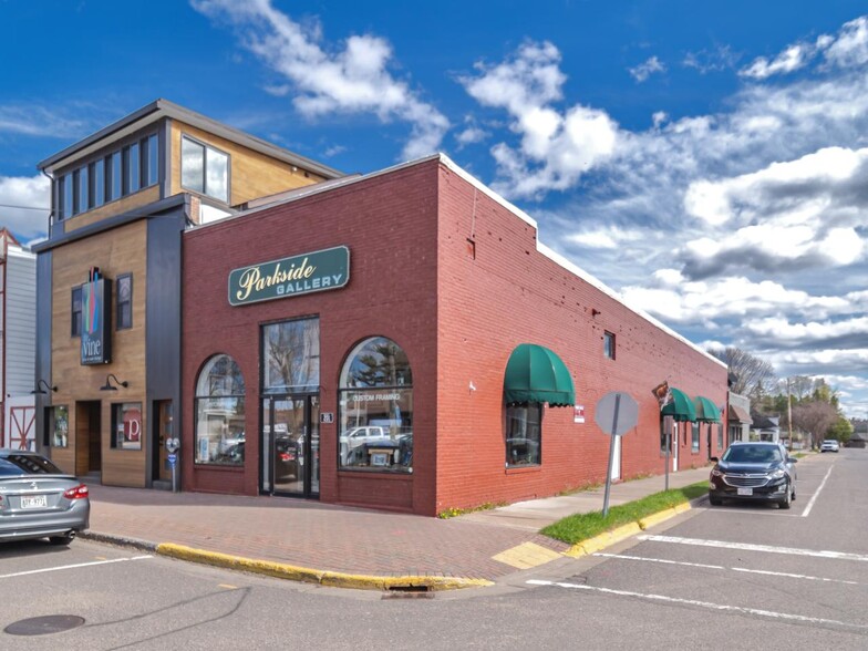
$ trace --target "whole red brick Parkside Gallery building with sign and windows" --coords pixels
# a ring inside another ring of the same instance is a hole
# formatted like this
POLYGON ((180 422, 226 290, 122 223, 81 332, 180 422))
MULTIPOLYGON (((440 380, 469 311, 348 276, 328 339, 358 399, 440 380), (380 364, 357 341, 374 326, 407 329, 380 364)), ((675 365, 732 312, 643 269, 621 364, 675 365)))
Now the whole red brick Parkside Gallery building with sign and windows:
POLYGON ((652 390, 713 421, 725 365, 445 156, 256 204, 183 235, 184 489, 423 515, 554 495, 604 480, 611 391, 639 403, 616 477, 662 474, 661 432, 675 468, 722 451, 720 424, 661 417, 652 390), (521 344, 562 362, 575 409, 506 403, 521 344))

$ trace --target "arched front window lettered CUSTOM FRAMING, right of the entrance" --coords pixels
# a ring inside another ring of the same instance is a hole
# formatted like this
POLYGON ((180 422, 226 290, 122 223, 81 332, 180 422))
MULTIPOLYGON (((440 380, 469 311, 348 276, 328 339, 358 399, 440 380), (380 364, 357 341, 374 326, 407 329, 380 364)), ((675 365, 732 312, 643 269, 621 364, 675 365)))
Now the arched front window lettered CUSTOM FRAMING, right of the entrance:
POLYGON ((372 337, 350 351, 341 371, 338 465, 413 471, 413 373, 391 339, 372 337))

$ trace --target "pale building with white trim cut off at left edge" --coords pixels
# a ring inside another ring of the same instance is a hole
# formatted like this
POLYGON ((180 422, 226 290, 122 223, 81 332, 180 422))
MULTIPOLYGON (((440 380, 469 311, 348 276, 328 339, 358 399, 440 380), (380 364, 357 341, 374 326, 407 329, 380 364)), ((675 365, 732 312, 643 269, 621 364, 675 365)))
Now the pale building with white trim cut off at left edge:
POLYGON ((35 450, 37 255, 0 228, 0 447, 35 450))

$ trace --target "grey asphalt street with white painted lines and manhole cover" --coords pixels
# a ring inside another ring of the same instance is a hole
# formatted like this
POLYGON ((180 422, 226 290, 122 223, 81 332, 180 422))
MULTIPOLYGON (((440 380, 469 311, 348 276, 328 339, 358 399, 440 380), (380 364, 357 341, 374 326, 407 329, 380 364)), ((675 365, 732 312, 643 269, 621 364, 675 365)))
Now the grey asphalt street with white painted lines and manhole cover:
POLYGON ((789 512, 700 506, 493 588, 337 590, 76 540, 0 547, 2 649, 868 648, 868 451, 799 465, 789 512))

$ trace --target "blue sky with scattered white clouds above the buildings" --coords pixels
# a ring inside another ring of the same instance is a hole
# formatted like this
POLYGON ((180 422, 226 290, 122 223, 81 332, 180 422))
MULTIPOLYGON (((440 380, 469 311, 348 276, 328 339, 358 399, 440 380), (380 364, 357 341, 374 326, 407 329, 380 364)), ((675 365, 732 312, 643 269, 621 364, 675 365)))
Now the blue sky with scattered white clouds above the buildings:
POLYGON ((700 345, 868 415, 864 2, 0 0, 0 223, 165 97, 345 172, 433 151, 700 345))

